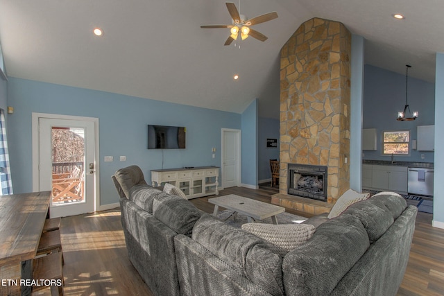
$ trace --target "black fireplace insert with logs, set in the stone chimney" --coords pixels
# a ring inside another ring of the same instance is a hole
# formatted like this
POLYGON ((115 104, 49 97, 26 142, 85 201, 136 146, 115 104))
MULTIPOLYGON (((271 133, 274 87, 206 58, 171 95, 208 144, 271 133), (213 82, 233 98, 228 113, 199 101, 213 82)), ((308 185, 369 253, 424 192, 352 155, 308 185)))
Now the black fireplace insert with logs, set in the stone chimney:
POLYGON ((327 166, 289 164, 288 194, 327 201, 327 166))

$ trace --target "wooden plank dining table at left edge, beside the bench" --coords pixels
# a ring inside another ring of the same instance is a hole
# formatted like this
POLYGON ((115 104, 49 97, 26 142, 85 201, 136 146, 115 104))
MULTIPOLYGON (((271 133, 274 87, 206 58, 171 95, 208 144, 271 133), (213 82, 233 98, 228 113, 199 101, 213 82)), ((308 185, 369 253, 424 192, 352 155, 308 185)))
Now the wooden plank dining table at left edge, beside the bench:
POLYGON ((0 196, 0 295, 31 295, 51 191, 0 196))

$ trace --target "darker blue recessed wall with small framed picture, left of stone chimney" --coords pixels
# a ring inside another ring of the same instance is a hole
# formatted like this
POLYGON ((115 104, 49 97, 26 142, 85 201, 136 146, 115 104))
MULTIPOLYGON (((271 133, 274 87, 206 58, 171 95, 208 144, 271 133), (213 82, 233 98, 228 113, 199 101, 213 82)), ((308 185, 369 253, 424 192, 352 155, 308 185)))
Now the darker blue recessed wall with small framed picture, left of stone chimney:
POLYGON ((271 179, 270 159, 279 159, 280 121, 259 117, 258 164, 259 182, 271 179), (278 147, 266 148, 266 139, 278 139, 278 147))

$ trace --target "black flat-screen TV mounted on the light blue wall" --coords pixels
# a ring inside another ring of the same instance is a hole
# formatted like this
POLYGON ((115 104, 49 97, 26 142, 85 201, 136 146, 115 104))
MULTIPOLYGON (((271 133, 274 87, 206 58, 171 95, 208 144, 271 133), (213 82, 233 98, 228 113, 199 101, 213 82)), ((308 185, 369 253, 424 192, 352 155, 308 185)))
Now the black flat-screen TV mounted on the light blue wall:
POLYGON ((185 149, 186 132, 182 126, 148 124, 148 149, 185 149))

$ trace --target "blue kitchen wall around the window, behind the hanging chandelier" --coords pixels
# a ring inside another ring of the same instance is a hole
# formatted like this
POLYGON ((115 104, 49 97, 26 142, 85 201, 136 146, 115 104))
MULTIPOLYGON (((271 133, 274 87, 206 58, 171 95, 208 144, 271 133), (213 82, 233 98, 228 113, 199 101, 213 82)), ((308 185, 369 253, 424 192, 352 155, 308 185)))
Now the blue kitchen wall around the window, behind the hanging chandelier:
MULTIPOLYGON (((409 73, 415 71, 414 67, 409 73)), ((377 129, 377 150, 364 150, 363 159, 390 160, 382 156, 381 133, 384 130, 410 130, 411 140, 416 139, 418 125, 435 123, 435 85, 409 76, 409 105, 411 111, 418 111, 415 121, 397 121, 398 111, 405 105, 405 75, 370 65, 364 70, 364 119, 363 128, 377 129)), ((398 156, 400 162, 434 162, 434 153, 411 150, 410 157, 398 156), (421 159, 420 155, 425 155, 421 159)))

